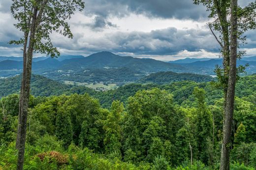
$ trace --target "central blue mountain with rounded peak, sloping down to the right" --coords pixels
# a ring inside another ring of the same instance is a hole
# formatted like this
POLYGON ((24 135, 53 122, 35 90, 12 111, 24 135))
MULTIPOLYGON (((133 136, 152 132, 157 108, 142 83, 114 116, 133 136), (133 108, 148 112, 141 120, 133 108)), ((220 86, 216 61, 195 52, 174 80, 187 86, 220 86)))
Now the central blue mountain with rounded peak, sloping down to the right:
POLYGON ((84 58, 66 59, 62 68, 104 68, 127 67, 140 72, 185 71, 177 64, 166 63, 155 59, 118 56, 110 52, 100 52, 84 58))

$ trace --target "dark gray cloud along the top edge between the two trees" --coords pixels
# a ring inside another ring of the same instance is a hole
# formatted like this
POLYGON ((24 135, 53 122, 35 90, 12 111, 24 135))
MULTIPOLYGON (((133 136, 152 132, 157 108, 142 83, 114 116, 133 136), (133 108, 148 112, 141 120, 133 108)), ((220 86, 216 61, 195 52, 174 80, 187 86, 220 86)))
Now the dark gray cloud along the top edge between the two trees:
POLYGON ((88 0, 87 14, 123 17, 130 12, 149 17, 176 19, 206 19, 208 12, 202 5, 194 5, 192 0, 88 0))

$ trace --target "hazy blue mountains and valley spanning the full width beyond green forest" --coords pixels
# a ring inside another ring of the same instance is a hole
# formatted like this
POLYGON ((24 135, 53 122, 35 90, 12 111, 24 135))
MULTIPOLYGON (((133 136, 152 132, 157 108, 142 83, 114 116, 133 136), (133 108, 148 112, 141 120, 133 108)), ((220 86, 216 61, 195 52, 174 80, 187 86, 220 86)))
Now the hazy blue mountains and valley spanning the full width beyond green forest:
MULTIPOLYGON (((0 57, 0 77, 20 74, 22 72, 22 62, 22 57, 0 57)), ((249 64, 247 73, 256 73, 256 57, 244 57, 237 61, 238 65, 247 63, 249 64)), ((88 57, 35 57, 33 58, 32 72, 67 84, 123 85, 137 81, 156 83, 156 80, 163 83, 166 83, 166 81, 172 82, 172 80, 209 81, 211 80, 210 77, 200 77, 194 74, 214 75, 217 64, 222 65, 221 58, 185 58, 163 62, 151 58, 126 57, 110 52, 100 52, 88 57), (150 75, 157 72, 161 73, 150 75), (145 77, 147 75, 150 76, 145 77), (179 79, 178 77, 182 78, 179 79)))

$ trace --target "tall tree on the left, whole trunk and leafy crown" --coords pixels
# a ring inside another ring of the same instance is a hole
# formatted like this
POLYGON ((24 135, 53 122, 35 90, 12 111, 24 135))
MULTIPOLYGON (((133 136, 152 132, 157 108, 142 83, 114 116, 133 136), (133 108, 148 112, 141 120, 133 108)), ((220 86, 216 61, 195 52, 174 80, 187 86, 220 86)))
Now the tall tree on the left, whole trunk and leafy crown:
POLYGON ((20 40, 10 41, 10 44, 23 46, 23 77, 16 140, 16 148, 19 150, 18 170, 23 169, 24 162, 33 52, 59 56, 50 34, 55 31, 72 38, 66 20, 70 19, 76 9, 81 11, 83 8, 83 0, 13 0, 11 12, 18 21, 14 26, 24 34, 20 40))

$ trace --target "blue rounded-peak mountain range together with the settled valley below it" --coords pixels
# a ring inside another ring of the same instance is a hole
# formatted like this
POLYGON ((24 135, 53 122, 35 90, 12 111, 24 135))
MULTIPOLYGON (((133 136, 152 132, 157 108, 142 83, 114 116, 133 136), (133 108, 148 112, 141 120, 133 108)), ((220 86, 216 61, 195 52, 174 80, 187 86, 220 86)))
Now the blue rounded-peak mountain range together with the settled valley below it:
MULTIPOLYGON (((184 72, 186 70, 185 67, 177 64, 155 59, 118 56, 110 52, 100 52, 88 57, 42 58, 33 58, 32 73, 61 82, 124 84, 135 82, 149 73, 159 71, 184 72)), ((14 76, 21 72, 22 61, 0 61, 0 77, 14 76)))

